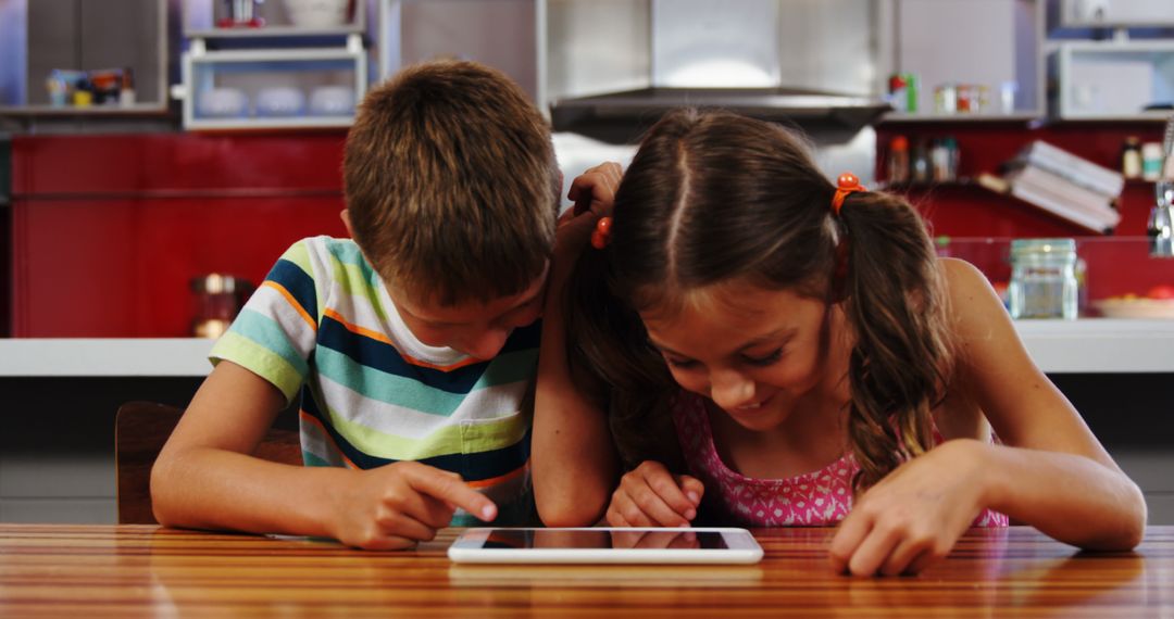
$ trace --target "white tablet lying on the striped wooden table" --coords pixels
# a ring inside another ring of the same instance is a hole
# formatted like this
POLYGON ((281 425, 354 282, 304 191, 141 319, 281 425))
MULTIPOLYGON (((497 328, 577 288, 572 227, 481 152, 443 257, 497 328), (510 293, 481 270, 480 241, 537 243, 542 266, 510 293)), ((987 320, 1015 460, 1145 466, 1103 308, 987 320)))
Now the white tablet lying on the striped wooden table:
POLYGON ((448 546, 459 563, 758 563, 745 529, 468 529, 448 546))

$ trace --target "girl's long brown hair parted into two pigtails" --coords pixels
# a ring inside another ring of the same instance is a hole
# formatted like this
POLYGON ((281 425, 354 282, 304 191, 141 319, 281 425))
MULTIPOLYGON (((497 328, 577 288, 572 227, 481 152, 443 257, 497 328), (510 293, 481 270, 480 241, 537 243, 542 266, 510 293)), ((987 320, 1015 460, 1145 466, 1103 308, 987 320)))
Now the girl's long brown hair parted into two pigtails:
POLYGON ((735 278, 843 304, 857 490, 932 444, 952 370, 932 242, 904 199, 852 193, 834 216, 834 193, 802 141, 771 123, 683 110, 645 136, 612 242, 579 259, 566 306, 571 366, 608 408, 627 465, 682 468, 668 415, 677 387, 637 310, 735 278))

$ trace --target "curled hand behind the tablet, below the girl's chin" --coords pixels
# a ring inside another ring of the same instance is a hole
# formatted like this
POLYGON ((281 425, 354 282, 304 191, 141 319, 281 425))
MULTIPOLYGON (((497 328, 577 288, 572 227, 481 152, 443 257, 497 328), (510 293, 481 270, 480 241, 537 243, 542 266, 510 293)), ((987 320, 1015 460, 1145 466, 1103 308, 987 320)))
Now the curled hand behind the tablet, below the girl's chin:
POLYGON ((695 477, 673 475, 645 461, 620 479, 607 508, 612 526, 689 526, 706 488, 695 477))

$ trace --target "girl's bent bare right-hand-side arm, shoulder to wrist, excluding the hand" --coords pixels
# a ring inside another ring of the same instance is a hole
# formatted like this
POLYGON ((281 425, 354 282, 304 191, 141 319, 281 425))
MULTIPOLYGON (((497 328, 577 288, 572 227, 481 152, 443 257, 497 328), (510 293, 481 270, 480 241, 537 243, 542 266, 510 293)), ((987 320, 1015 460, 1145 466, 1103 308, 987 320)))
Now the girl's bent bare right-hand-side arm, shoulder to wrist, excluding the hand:
POLYGON ((1086 549, 1141 542, 1146 504, 1068 400, 1035 366, 986 278, 946 260, 970 393, 1008 447, 980 444, 984 503, 1086 549))

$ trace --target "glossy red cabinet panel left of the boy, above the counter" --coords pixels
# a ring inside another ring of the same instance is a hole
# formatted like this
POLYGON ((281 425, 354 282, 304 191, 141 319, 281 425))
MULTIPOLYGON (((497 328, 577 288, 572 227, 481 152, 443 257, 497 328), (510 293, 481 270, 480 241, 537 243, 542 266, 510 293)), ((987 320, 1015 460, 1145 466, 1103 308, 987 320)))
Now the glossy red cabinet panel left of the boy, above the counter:
POLYGON ((185 336, 193 277, 344 236, 344 131, 13 142, 12 335, 185 336))

